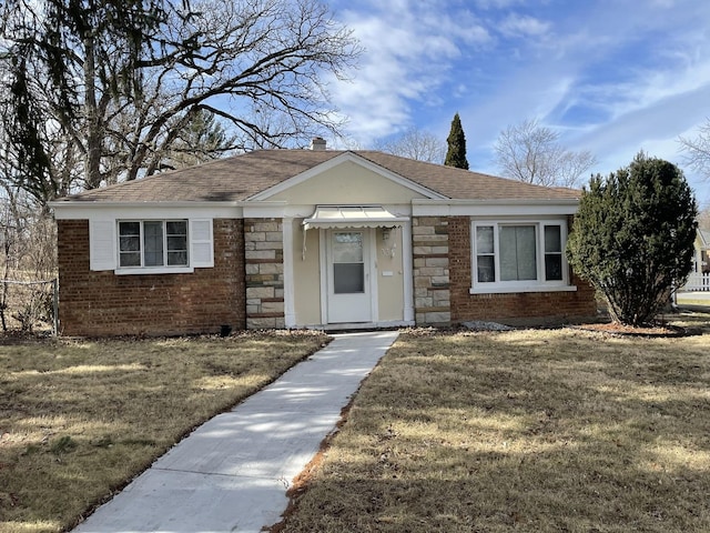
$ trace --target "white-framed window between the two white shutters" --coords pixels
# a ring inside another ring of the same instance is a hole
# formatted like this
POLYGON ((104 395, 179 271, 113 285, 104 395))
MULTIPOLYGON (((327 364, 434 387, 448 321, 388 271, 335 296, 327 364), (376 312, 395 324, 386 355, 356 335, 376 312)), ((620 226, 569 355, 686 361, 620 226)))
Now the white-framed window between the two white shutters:
POLYGON ((187 266, 187 221, 119 222, 119 266, 187 266))

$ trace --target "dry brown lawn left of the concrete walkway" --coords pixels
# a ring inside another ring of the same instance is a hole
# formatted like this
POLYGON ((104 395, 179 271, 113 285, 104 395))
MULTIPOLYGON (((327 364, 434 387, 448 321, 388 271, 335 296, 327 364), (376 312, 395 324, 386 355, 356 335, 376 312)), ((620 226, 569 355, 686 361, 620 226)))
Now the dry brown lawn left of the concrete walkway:
POLYGON ((0 531, 57 532, 322 334, 0 345, 0 531))

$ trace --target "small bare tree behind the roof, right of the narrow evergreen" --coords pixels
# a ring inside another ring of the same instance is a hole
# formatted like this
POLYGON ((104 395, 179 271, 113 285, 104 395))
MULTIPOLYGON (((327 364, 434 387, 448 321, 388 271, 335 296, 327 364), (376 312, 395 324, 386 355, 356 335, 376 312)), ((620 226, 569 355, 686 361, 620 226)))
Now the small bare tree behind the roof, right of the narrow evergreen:
POLYGON ((576 187, 597 159, 589 151, 574 152, 559 143, 559 133, 525 120, 500 132, 495 144, 499 171, 526 183, 576 187))

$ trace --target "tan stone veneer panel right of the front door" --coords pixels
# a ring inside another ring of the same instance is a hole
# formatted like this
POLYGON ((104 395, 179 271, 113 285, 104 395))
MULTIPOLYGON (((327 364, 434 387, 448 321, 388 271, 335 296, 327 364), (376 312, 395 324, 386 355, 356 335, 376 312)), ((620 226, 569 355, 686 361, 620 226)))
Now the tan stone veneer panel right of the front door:
POLYGON ((448 325, 449 239, 446 217, 412 219, 414 313, 418 325, 448 325))

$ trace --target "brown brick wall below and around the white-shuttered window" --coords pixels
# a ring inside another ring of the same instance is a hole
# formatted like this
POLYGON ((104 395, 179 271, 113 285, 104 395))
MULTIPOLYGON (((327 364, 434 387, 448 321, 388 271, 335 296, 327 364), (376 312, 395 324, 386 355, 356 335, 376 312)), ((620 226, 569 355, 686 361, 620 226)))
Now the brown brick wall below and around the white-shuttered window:
POLYGON ((89 270, 89 221, 59 220, 59 320, 64 335, 173 335, 245 326, 241 220, 215 219, 214 268, 191 274, 89 270))

